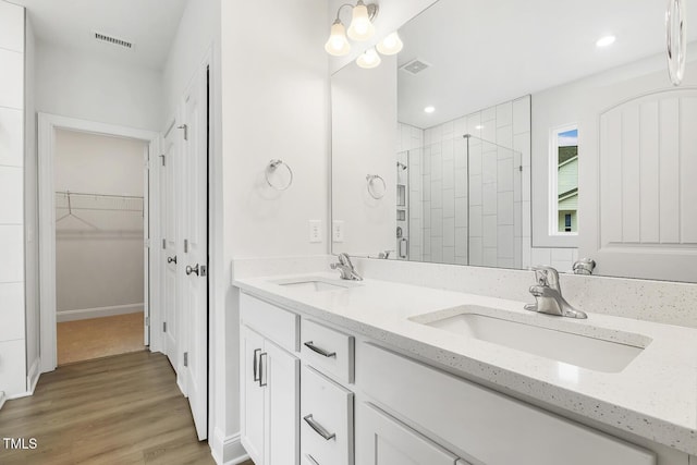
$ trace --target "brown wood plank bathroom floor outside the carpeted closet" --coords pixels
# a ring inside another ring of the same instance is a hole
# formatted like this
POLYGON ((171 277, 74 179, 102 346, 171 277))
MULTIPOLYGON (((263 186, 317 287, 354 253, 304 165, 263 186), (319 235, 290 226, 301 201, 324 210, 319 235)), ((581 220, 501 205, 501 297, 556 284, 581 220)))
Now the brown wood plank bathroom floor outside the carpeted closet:
POLYGON ((0 409, 0 438, 36 438, 1 465, 213 464, 161 354, 137 352, 59 367, 32 397, 0 409))

